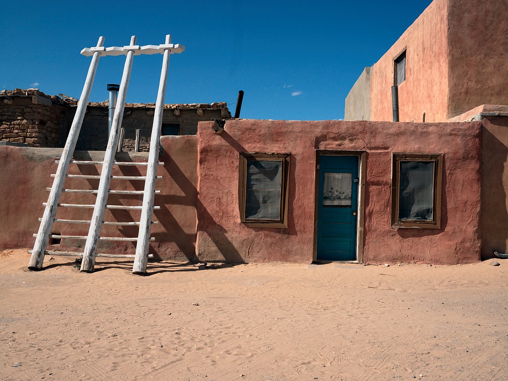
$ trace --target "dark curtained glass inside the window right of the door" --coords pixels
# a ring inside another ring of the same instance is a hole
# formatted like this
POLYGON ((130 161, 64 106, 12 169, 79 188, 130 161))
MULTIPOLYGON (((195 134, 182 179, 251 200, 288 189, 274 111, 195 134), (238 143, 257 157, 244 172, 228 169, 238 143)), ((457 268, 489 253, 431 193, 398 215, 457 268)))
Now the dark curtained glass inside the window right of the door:
POLYGON ((432 221, 434 200, 434 162, 401 161, 399 220, 432 221))

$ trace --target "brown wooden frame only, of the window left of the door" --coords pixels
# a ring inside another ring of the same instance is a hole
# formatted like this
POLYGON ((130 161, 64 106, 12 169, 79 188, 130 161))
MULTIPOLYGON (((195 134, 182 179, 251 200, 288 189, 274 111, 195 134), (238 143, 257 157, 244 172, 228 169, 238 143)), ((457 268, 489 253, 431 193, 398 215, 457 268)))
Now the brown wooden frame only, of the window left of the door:
POLYGON ((240 211, 240 221, 250 227, 264 228, 287 228, 288 227, 288 194, 289 194, 289 168, 290 153, 260 153, 260 152, 240 152, 239 172, 238 172, 238 209, 240 211), (282 163, 282 174, 280 181, 280 213, 277 220, 272 219, 246 219, 245 218, 245 200, 247 185, 247 162, 250 160, 274 160, 282 163))

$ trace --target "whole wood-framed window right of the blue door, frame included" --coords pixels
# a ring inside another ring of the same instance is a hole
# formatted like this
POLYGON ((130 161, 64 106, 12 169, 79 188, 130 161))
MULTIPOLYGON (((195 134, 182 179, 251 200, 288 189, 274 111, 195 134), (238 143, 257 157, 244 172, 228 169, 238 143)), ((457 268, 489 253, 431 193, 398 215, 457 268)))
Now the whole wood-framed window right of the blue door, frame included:
POLYGON ((440 228, 441 154, 394 154, 392 225, 440 228))

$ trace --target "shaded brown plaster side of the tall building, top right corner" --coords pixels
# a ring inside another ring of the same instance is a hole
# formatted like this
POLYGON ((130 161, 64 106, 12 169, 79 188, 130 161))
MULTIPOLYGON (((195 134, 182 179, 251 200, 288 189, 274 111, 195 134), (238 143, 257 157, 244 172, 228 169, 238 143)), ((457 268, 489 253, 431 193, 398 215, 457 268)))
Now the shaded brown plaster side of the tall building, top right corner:
POLYGON ((448 117, 487 103, 508 105, 508 2, 448 3, 448 117))

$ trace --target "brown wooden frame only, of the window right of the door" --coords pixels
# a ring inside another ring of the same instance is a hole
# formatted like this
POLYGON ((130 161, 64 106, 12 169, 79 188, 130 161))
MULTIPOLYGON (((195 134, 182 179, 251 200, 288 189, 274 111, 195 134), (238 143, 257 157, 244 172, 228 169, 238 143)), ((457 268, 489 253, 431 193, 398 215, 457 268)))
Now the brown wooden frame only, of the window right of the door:
POLYGON ((443 178, 443 155, 442 154, 409 154, 394 153, 392 167, 392 227, 393 228, 419 228, 419 229, 440 229, 441 228, 441 193, 443 178), (432 221, 402 221, 399 220, 399 186, 400 186, 400 162, 401 161, 432 161, 434 162, 433 179, 433 220, 432 221))

